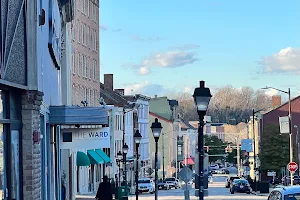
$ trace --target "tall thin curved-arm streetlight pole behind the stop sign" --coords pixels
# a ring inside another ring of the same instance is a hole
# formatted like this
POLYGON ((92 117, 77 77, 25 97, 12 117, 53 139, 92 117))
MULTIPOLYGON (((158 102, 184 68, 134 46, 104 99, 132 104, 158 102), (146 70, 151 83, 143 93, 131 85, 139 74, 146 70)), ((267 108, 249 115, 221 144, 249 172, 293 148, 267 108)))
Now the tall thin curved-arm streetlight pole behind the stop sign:
MULTIPOLYGON (((292 105, 291 105, 291 90, 290 88, 288 88, 288 91, 284 91, 284 90, 280 90, 277 88, 273 88, 273 87, 264 87, 262 88, 263 90, 266 89, 274 89, 277 90, 279 92, 283 92, 287 95, 289 95, 289 134, 290 134, 290 162, 293 162, 293 138, 292 138, 292 105)), ((294 176, 293 176, 293 172, 290 172, 291 174, 291 185, 293 185, 294 183, 294 176)))

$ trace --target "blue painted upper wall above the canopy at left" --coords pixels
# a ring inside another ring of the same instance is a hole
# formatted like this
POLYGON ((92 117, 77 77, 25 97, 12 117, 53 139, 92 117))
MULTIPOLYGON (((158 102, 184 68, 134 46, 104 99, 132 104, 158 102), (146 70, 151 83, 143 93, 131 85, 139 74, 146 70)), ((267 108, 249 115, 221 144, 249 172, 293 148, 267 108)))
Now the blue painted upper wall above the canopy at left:
POLYGON ((60 64, 61 17, 58 2, 56 0, 37 1, 37 15, 41 14, 42 8, 46 12, 45 25, 39 26, 36 23, 38 90, 44 92, 43 101, 47 105, 60 105, 60 71, 55 67, 54 59, 51 58, 48 48, 48 43, 51 40, 53 50, 57 54, 56 62, 60 64), (50 26, 54 27, 54 35, 49 34, 51 32, 50 26))

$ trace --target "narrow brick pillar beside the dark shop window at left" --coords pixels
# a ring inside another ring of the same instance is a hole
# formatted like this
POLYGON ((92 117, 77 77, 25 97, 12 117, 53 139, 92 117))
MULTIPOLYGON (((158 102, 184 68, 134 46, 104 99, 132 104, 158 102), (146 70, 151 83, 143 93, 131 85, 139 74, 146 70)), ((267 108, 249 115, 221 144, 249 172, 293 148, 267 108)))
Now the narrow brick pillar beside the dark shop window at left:
POLYGON ((22 95, 23 199, 41 199, 41 146, 33 143, 33 132, 40 132, 40 105, 43 93, 26 91, 22 95))

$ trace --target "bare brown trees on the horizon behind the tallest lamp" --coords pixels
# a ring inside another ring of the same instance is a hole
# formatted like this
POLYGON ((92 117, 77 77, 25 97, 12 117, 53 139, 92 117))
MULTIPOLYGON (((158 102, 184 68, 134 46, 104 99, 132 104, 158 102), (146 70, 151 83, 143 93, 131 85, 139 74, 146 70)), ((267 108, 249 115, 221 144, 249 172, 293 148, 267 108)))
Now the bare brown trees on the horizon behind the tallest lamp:
MULTIPOLYGON (((178 112, 185 121, 198 120, 194 100, 189 93, 175 93, 170 95, 178 100, 178 112)), ((214 122, 246 122, 252 109, 266 109, 271 106, 271 97, 263 91, 255 91, 251 87, 233 88, 225 86, 218 88, 213 94, 207 115, 212 116, 214 122)))

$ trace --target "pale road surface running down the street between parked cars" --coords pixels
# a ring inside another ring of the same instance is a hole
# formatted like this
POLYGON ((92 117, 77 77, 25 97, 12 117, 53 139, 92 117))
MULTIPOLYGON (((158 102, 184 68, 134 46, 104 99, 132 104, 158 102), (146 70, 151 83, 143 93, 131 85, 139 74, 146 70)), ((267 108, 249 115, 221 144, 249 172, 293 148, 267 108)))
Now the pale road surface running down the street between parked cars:
MULTIPOLYGON (((253 194, 231 194, 229 189, 225 188, 225 176, 214 177, 214 182, 209 184, 208 197, 204 199, 208 200, 266 200, 266 196, 255 196, 253 194)), ((190 191, 190 199, 196 200, 199 199, 194 196, 195 190, 190 191)), ((130 196, 128 199, 135 200, 135 196, 130 196)), ((172 189, 172 190, 160 190, 158 193, 158 200, 184 200, 184 194, 182 189, 172 189)), ((139 196, 139 200, 154 200, 154 195, 152 194, 142 194, 139 196)))

